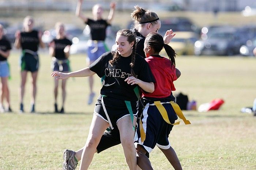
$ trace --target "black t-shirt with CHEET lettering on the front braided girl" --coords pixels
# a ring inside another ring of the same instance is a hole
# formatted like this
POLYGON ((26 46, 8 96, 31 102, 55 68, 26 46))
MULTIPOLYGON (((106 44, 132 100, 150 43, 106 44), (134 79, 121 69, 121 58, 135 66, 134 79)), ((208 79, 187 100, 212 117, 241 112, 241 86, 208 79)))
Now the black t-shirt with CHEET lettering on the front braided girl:
MULTIPOLYGON (((124 81, 131 76, 132 57, 119 57, 117 61, 110 65, 109 61, 113 58, 111 52, 101 55, 89 69, 103 79, 101 94, 109 97, 127 101, 138 101, 138 94, 135 89, 138 85, 131 85, 124 81)), ((144 82, 155 82, 153 74, 146 60, 140 55, 135 55, 133 70, 139 80, 144 82)))

